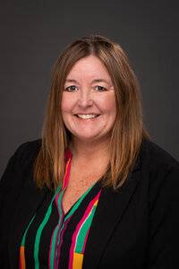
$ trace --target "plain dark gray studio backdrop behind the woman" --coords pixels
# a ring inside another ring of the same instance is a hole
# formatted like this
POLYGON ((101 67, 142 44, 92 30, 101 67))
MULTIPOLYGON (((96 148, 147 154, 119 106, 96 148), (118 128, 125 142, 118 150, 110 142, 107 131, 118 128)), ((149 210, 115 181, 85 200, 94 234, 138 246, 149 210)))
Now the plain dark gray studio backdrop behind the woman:
POLYGON ((56 57, 91 33, 128 53, 149 134, 179 160, 178 17, 178 1, 2 1, 0 172, 19 144, 40 137, 56 57))

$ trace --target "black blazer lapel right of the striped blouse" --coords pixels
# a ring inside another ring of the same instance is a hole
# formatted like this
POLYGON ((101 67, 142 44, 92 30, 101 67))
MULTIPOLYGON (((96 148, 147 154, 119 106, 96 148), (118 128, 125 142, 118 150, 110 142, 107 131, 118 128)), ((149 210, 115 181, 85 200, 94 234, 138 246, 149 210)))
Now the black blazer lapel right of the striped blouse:
POLYGON ((97 211, 90 227, 90 235, 85 248, 83 268, 97 268, 107 247, 115 226, 123 218, 124 211, 132 198, 141 178, 140 161, 129 173, 124 186, 118 192, 112 187, 104 188, 98 201, 97 211))

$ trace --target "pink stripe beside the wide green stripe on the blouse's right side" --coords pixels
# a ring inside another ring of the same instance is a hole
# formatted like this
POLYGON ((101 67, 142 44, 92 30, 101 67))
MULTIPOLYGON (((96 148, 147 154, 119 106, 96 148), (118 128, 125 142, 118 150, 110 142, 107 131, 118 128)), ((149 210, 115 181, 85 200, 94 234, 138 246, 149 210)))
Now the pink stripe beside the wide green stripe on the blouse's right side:
POLYGON ((88 205, 88 207, 87 207, 81 221, 78 223, 78 225, 76 227, 76 230, 74 231, 74 233, 72 235, 72 245, 71 245, 71 248, 70 248, 70 261, 69 261, 69 267, 68 267, 69 269, 72 269, 74 247, 75 247, 75 244, 76 244, 76 238, 78 236, 79 230, 81 229, 81 225, 88 218, 93 205, 98 200, 99 195, 100 195, 100 191, 98 192, 98 195, 96 195, 96 197, 93 200, 90 201, 90 204, 88 205))

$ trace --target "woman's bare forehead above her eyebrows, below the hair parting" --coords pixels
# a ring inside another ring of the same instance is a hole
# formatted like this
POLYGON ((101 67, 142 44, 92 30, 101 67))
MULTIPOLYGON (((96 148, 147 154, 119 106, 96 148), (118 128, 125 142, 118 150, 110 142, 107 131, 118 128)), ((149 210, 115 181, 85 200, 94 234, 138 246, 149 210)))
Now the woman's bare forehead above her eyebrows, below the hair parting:
POLYGON ((107 68, 97 56, 86 56, 77 61, 66 79, 106 79, 111 81, 107 68))

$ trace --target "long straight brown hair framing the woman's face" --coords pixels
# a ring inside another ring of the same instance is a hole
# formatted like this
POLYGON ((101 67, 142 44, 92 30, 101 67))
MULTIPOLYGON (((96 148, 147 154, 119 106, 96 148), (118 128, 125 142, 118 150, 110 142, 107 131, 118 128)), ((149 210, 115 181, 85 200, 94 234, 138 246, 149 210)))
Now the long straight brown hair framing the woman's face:
POLYGON ((64 152, 71 134, 62 119, 61 100, 64 82, 72 66, 82 57, 94 55, 106 66, 115 87, 116 117, 110 139, 110 163, 103 185, 121 187, 137 160, 143 138, 149 139, 144 128, 141 91, 128 57, 120 45, 91 35, 74 40, 57 58, 42 130, 42 143, 34 162, 37 186, 55 189, 64 178, 64 152))

